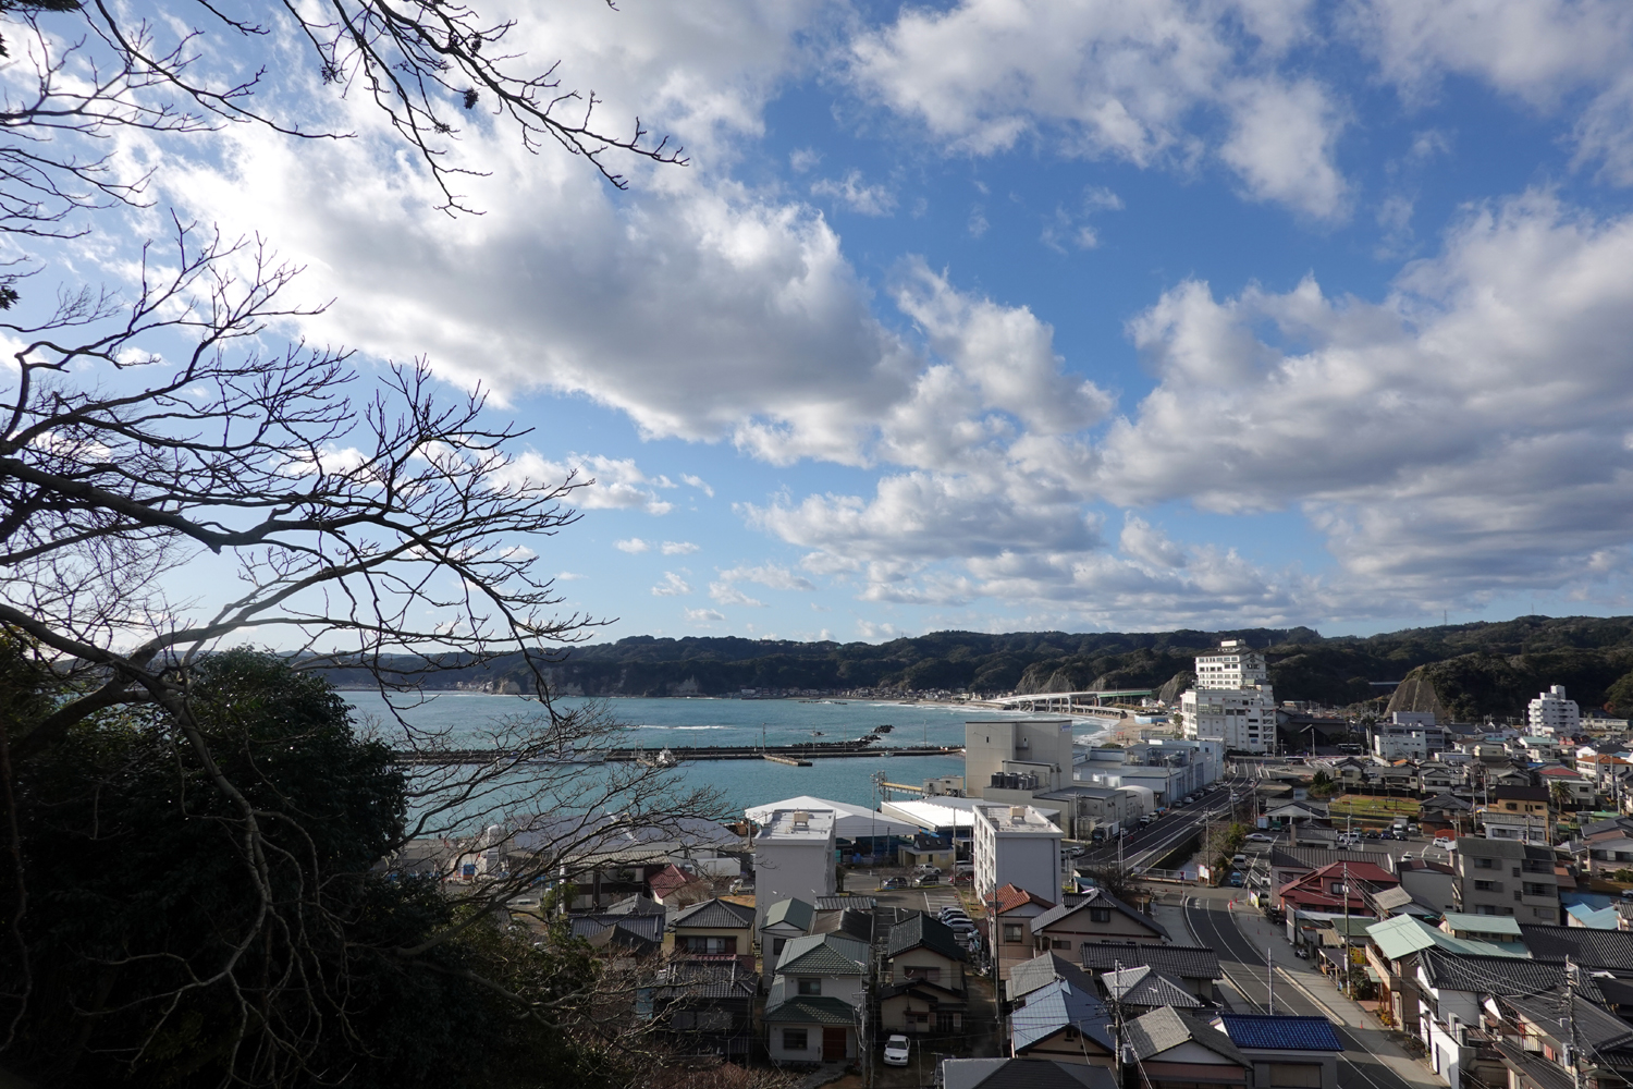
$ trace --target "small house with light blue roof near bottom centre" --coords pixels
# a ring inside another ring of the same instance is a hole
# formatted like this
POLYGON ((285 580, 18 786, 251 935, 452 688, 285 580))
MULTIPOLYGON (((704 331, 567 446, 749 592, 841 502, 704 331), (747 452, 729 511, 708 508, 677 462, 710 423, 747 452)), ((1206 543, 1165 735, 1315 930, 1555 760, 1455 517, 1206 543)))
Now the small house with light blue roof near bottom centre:
POLYGON ((1009 985, 1011 1055, 1115 1066, 1110 1012, 1094 981, 1071 962, 1039 953, 1030 965, 1016 967, 1009 985))

